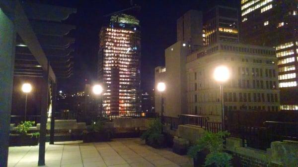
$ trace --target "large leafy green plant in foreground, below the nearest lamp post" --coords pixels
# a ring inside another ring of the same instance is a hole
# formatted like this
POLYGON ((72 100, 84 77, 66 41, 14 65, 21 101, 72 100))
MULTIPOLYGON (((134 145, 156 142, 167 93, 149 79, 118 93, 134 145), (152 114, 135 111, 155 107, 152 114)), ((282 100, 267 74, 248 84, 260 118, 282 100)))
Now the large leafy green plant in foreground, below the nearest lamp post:
POLYGON ((188 150, 188 155, 194 159, 194 167, 232 167, 232 156, 224 152, 224 137, 228 132, 205 132, 202 138, 188 150), (202 161, 205 158, 205 163, 202 161), (200 159, 201 158, 201 159, 200 159))

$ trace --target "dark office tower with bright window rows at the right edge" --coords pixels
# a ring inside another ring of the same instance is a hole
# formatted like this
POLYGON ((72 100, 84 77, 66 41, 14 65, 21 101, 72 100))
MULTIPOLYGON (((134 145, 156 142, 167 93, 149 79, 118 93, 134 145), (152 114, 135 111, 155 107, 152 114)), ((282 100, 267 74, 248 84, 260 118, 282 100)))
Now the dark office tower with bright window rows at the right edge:
POLYGON ((297 6, 297 0, 241 0, 241 41, 276 50, 281 110, 298 111, 297 6))

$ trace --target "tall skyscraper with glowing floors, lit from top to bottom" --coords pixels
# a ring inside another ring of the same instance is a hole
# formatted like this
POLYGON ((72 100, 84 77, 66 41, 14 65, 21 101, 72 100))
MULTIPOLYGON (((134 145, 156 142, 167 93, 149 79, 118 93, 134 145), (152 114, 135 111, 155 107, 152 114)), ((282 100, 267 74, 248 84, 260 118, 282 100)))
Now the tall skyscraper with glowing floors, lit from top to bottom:
POLYGON ((112 15, 109 25, 100 30, 98 79, 105 87, 104 114, 138 111, 140 34, 139 20, 123 13, 112 15))

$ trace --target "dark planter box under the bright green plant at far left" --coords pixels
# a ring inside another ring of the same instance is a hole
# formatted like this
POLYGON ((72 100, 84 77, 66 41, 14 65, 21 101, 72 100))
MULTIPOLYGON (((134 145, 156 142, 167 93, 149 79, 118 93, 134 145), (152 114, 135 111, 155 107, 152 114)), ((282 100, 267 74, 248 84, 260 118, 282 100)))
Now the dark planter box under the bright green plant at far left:
POLYGON ((19 135, 10 134, 9 135, 9 146, 36 146, 38 145, 39 138, 31 137, 31 134, 19 135))

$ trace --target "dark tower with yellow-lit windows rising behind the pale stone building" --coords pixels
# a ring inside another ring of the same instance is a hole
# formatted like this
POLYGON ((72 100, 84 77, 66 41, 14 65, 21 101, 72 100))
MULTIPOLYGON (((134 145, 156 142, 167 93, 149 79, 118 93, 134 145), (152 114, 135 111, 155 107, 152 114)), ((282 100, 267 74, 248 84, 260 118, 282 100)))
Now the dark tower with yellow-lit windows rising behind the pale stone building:
POLYGON ((209 46, 220 41, 239 41, 236 8, 217 5, 204 14, 203 45, 209 46))

